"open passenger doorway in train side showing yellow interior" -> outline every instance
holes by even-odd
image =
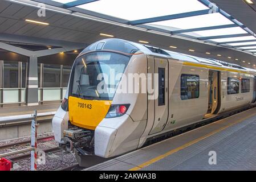
[[[218,112],[219,103],[219,72],[209,71],[209,98],[208,98],[208,113],[215,114]]]

